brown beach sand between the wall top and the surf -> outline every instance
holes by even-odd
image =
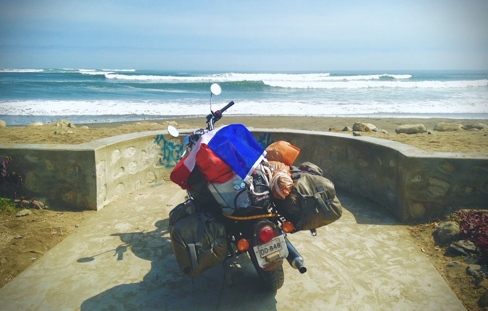
[[[7,126],[0,127],[1,143],[29,143],[29,144],[81,144],[101,138],[121,135],[126,133],[162,130],[166,129],[168,121],[178,123],[178,128],[203,128],[205,118],[181,118],[152,120],[142,122],[115,122],[115,123],[95,123],[77,124],[77,128],[72,129],[72,134],[54,134],[60,127],[46,124],[43,126]],[[488,130],[480,131],[455,131],[438,132],[433,131],[439,122],[456,123],[467,125],[471,123],[488,124],[488,120],[473,119],[418,119],[418,118],[339,118],[339,117],[313,117],[313,116],[224,116],[218,123],[234,124],[240,123],[253,128],[283,128],[283,129],[302,129],[313,131],[341,132],[352,135],[352,132],[343,132],[345,126],[352,128],[355,122],[372,123],[378,128],[385,129],[388,134],[363,132],[367,136],[381,139],[398,141],[404,144],[418,147],[426,151],[441,152],[468,152],[468,153],[487,153],[488,152]],[[396,134],[395,129],[404,124],[425,125],[431,133],[423,134]],[[87,125],[89,128],[81,128]],[[335,128],[335,129],[333,129]]]

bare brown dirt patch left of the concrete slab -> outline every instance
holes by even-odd
[[[83,222],[95,213],[92,210],[30,211],[31,215],[23,217],[15,217],[15,213],[0,214],[0,288],[67,236],[82,230]]]

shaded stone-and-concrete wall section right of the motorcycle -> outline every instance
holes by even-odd
[[[435,217],[446,208],[488,204],[488,153],[426,152],[393,141],[330,132],[252,132],[261,146],[285,140],[301,148],[296,166],[305,161],[317,164],[337,189],[378,202],[402,221]]]

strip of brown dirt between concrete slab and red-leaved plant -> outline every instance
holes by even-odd
[[[485,308],[478,306],[478,300],[488,290],[488,280],[482,276],[473,277],[466,273],[470,258],[456,257],[449,253],[447,251],[448,245],[439,246],[436,232],[437,224],[438,222],[431,222],[411,226],[408,229],[425,256],[436,267],[466,309],[485,310]],[[456,261],[457,264],[451,264],[453,265],[451,267],[447,266],[453,261]]]

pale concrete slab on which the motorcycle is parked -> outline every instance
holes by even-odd
[[[404,225],[347,193],[339,221],[291,235],[308,271],[285,263],[278,291],[247,256],[232,286],[221,266],[187,278],[167,232],[184,195],[165,183],[110,203],[0,289],[0,310],[465,310]]]

